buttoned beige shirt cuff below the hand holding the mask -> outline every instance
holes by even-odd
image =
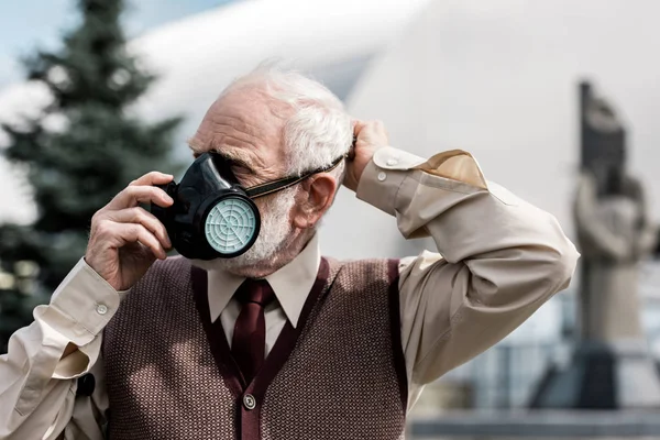
[[[55,290],[51,305],[36,310],[35,319],[45,322],[72,343],[90,343],[119,308],[121,296],[84,258]]]

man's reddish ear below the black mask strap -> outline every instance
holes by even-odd
[[[337,179],[328,173],[302,180],[292,211],[294,226],[299,229],[314,228],[332,205],[337,185]]]

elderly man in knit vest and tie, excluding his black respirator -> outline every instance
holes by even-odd
[[[383,124],[352,121],[296,73],[237,80],[189,144],[248,191],[272,189],[254,199],[256,241],[235,257],[167,258],[167,229],[139,204],[170,207],[156,185],[173,177],[131,183],[0,359],[1,439],[399,439],[426,384],[575,267],[556,219],[486,182],[469,153],[395,150]],[[317,228],[342,183],[439,253],[322,257]]]

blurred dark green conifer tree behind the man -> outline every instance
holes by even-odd
[[[170,160],[178,118],[141,121],[130,110],[154,77],[125,50],[123,0],[78,0],[81,21],[58,52],[24,64],[52,103],[34,119],[2,124],[4,156],[26,173],[37,208],[32,224],[0,227],[0,352],[32,320],[84,254],[91,216],[130,180],[176,172]]]

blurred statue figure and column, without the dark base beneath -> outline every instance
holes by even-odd
[[[613,342],[644,339],[639,262],[656,246],[640,182],[626,174],[625,132],[603,99],[585,97],[585,151],[574,213],[582,252],[581,336]],[[590,99],[591,98],[591,99]],[[598,141],[608,142],[598,142]]]

